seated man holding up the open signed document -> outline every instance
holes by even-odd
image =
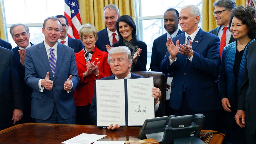
[[[102,79],[129,79],[129,78],[140,78],[142,76],[133,74],[131,72],[132,57],[131,51],[126,46],[114,47],[108,51],[108,64],[110,65],[111,71],[114,75],[105,77]],[[159,88],[152,88],[152,96],[155,99],[155,111],[156,113],[162,113],[163,109],[160,106],[159,97],[161,96],[161,91]],[[97,106],[96,106],[96,83],[94,88],[94,95],[92,98],[92,105],[89,111],[92,122],[96,124],[97,122]],[[110,124],[108,129],[116,129],[120,126],[118,124]]]

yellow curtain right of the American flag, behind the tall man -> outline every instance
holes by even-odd
[[[136,21],[135,0],[78,0],[78,2],[82,24],[90,23],[97,31],[105,28],[103,8],[108,4],[116,5],[120,16],[130,15]]]

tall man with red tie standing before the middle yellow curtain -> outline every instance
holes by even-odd
[[[116,29],[116,21],[119,18],[119,9],[114,4],[106,5],[103,9],[103,16],[106,28],[97,32],[98,40],[95,45],[101,51],[106,51],[106,45],[112,46],[119,40]]]

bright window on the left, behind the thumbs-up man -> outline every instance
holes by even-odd
[[[49,16],[64,15],[64,0],[4,0],[4,8],[7,36],[14,48],[17,44],[9,32],[13,24],[26,24],[29,27],[30,42],[41,43],[44,40],[41,31],[43,21]]]

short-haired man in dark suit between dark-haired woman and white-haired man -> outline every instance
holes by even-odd
[[[162,62],[166,53],[166,40],[171,37],[175,37],[183,33],[179,28],[179,12],[174,8],[169,8],[164,12],[164,28],[167,31],[165,34],[161,35],[154,40],[152,46],[151,71],[161,71],[160,63]]]

